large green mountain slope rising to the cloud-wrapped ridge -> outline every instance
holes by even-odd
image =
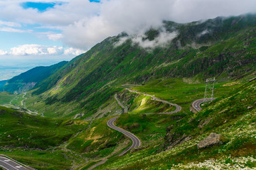
[[[208,77],[220,81],[252,77],[255,18],[247,15],[187,24],[165,21],[166,31],[178,34],[166,45],[151,50],[132,42],[124,33],[107,38],[38,84],[28,106],[41,112],[48,108],[50,117],[76,113],[89,117],[126,83],[145,84],[170,77],[193,77],[199,82]],[[151,29],[144,40],[154,40],[160,32],[160,28]],[[127,40],[117,46],[120,38]]]

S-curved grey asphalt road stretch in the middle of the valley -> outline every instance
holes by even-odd
[[[118,117],[119,117],[119,116],[114,117],[114,118],[108,120],[108,121],[107,121],[107,125],[108,125],[110,128],[114,129],[114,130],[117,130],[117,131],[119,131],[119,132],[122,132],[122,134],[126,135],[127,137],[129,137],[129,138],[132,140],[132,146],[129,147],[129,148],[127,148],[126,150],[124,150],[124,152],[122,152],[121,154],[119,154],[119,156],[122,156],[122,155],[126,154],[130,149],[133,149],[133,148],[135,148],[135,147],[139,147],[139,146],[141,145],[141,142],[140,142],[139,138],[136,137],[135,135],[133,135],[132,133],[127,132],[126,130],[123,130],[123,129],[121,129],[121,128],[118,128],[117,126],[114,125],[114,121],[117,120]]]

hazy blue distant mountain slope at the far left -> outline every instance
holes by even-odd
[[[44,79],[50,77],[58,69],[63,67],[67,62],[59,62],[48,67],[35,67],[28,70],[12,79],[9,79],[4,86],[1,86],[1,91],[9,91],[11,93],[21,94],[25,91],[33,89],[33,87],[43,81]]]

